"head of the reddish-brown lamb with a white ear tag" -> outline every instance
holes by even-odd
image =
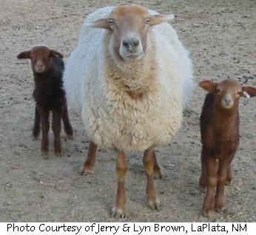
[[[202,81],[199,86],[207,92],[215,93],[215,101],[220,109],[234,109],[238,106],[241,97],[256,96],[256,88],[241,86],[237,81],[227,79],[220,83]]]

